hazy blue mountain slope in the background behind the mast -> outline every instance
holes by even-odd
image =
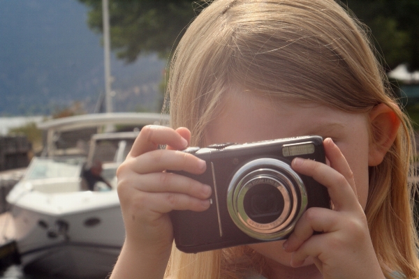
[[[0,116],[51,114],[82,101],[93,112],[105,91],[101,36],[77,0],[1,0]],[[114,110],[159,112],[166,61],[125,65],[112,54]]]

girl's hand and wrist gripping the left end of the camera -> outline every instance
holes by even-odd
[[[126,241],[114,273],[121,271],[122,266],[130,269],[124,272],[128,277],[120,278],[138,274],[142,278],[163,278],[173,241],[168,212],[204,211],[210,206],[210,186],[165,172],[166,169],[192,174],[205,172],[205,161],[178,151],[189,146],[190,137],[186,128],[145,126],[117,169]],[[167,144],[168,148],[157,149],[159,144]]]

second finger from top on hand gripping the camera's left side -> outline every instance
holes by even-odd
[[[127,164],[130,164],[130,168],[138,174],[163,172],[166,169],[202,174],[207,169],[205,160],[182,151],[164,149],[144,153],[142,156],[132,158]]]

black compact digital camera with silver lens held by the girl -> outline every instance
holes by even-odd
[[[205,160],[207,170],[174,173],[211,186],[212,204],[203,212],[170,213],[183,252],[286,239],[305,210],[330,208],[325,186],[291,168],[295,157],[325,163],[322,137],[212,144],[184,152]]]

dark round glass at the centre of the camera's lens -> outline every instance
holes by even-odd
[[[244,211],[256,223],[272,223],[284,211],[284,197],[267,183],[253,186],[244,196]]]

